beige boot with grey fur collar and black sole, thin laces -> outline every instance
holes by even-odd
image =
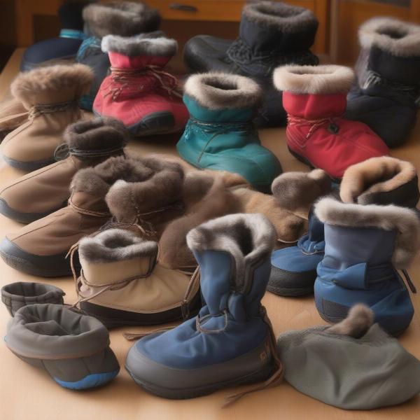
[[[200,276],[160,265],[158,243],[139,231],[102,230],[78,243],[78,304],[107,328],[152,325],[197,313]]]

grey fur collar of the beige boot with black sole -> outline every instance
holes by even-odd
[[[108,229],[80,239],[78,253],[86,262],[115,262],[156,255],[158,244],[130,230]]]

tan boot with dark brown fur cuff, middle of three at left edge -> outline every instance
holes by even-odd
[[[129,135],[114,118],[94,118],[69,125],[57,148],[59,161],[15,179],[0,191],[0,213],[31,223],[66,206],[70,183],[79,169],[122,155]]]

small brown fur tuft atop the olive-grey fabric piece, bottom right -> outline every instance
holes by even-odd
[[[374,314],[372,309],[365,304],[358,303],[350,308],[349,313],[343,321],[327,328],[325,332],[360,338],[363,337],[367,330],[372,326],[373,320]]]

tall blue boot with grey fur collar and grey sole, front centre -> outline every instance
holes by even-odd
[[[174,399],[272,374],[259,388],[276,384],[281,363],[260,303],[275,241],[271,223],[258,214],[224,216],[192,230],[187,241],[200,265],[206,304],[176,328],[141,338],[127,355],[127,371],[146,391]]]

